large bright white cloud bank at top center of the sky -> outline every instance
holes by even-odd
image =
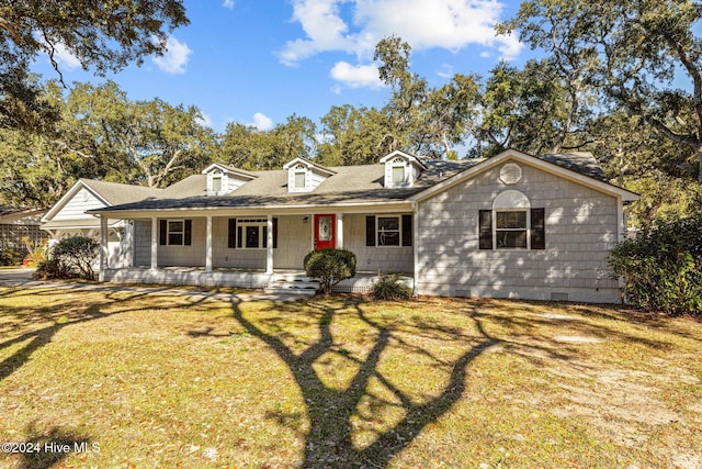
[[[342,4],[351,11],[349,20],[342,18]],[[506,59],[523,47],[513,36],[495,34],[503,9],[498,0],[293,0],[293,7],[292,20],[305,37],[285,44],[280,52],[285,65],[329,51],[367,58],[380,40],[393,34],[415,49],[477,44],[497,48]]]

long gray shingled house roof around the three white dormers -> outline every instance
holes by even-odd
[[[233,192],[212,197],[206,194],[206,175],[195,175],[167,189],[152,192],[148,198],[91,210],[89,213],[408,203],[429,198],[509,159],[520,160],[601,192],[621,197],[624,201],[638,199],[635,193],[607,182],[591,154],[573,153],[535,157],[509,149],[487,159],[422,161],[426,169],[412,187],[406,188],[384,187],[385,166],[382,164],[325,168],[331,172],[331,176],[312,192],[288,192],[287,170],[276,169],[251,171],[251,175],[256,176],[254,179]]]

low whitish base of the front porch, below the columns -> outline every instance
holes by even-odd
[[[204,267],[161,267],[157,269],[129,267],[105,269],[101,272],[103,281],[113,283],[157,283],[157,284],[188,284],[197,287],[231,287],[246,289],[288,289],[296,292],[317,291],[318,283],[309,279],[302,270],[281,269],[273,272],[264,270],[239,270]],[[359,272],[355,277],[343,280],[335,286],[339,293],[367,293],[373,283],[378,281],[376,273]],[[404,275],[400,281],[414,289],[411,276]]]

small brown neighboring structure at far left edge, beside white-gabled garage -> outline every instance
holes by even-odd
[[[0,206],[0,250],[16,249],[27,254],[29,241],[32,246],[48,239],[48,233],[39,228],[46,210]]]

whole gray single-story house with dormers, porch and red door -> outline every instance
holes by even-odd
[[[104,281],[267,287],[291,280],[309,250],[344,247],[361,273],[348,290],[401,272],[416,294],[596,302],[620,301],[607,256],[638,199],[590,154],[516,150],[461,161],[394,152],[330,168],[295,158],[265,171],[213,164],[166,189],[104,185],[80,181],[45,222],[65,232],[92,216]],[[102,206],[88,206],[91,194]]]

